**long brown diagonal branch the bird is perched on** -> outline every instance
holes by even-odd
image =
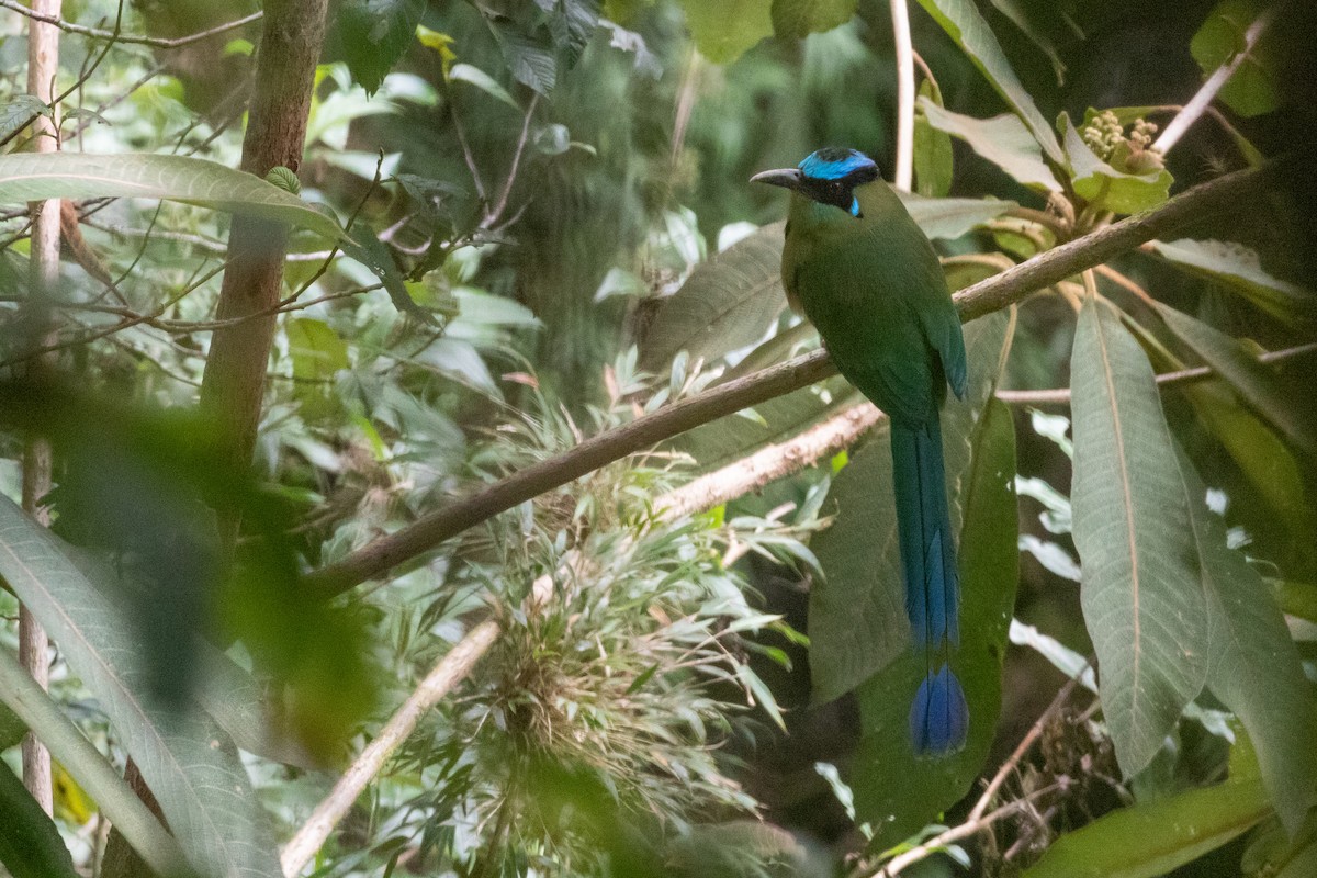
[[[1201,221],[1205,216],[1238,209],[1241,204],[1256,200],[1268,187],[1288,179],[1297,170],[1297,159],[1289,157],[1195,186],[1155,211],[1098,229],[963,290],[956,295],[960,317],[965,321],[981,317],[1146,241]],[[309,573],[304,582],[327,598],[341,594],[367,579],[387,574],[394,566],[429,552],[466,528],[606,463],[724,415],[805,387],[835,371],[827,353],[819,350],[719,384],[626,426],[594,436],[569,452],[514,473],[470,498],[424,515],[402,530],[362,546],[342,561]]]

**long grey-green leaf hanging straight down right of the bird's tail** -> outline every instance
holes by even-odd
[[[1071,361],[1075,546],[1102,712],[1126,777],[1206,681],[1208,624],[1188,498],[1152,366],[1087,299]]]

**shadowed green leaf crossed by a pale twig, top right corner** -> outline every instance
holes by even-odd
[[[1205,75],[1229,65],[1245,50],[1245,32],[1258,18],[1263,4],[1256,0],[1222,0],[1189,41],[1189,54]],[[1272,22],[1271,28],[1276,28]],[[1217,99],[1241,116],[1260,116],[1280,107],[1275,84],[1275,65],[1268,51],[1267,34],[1259,37],[1249,57],[1217,92]]]

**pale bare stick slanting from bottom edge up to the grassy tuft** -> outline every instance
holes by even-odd
[[[453,646],[437,665],[425,675],[420,686],[416,687],[403,706],[398,708],[385,727],[379,729],[366,749],[361,752],[353,763],[333,785],[329,795],[316,806],[298,833],[283,849],[279,864],[283,874],[292,878],[302,871],[303,866],[311,862],[316,852],[338,825],[338,821],[352,808],[361,791],[374,779],[385,766],[385,761],[396,750],[403,741],[416,729],[421,717],[444,698],[449,690],[465,678],[475,662],[494,645],[498,638],[499,627],[495,621],[482,621],[469,631],[461,642]]]

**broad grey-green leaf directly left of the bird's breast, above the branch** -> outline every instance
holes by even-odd
[[[666,371],[680,350],[711,363],[763,338],[786,305],[782,229],[766,225],[699,265],[645,333],[641,369]]]

